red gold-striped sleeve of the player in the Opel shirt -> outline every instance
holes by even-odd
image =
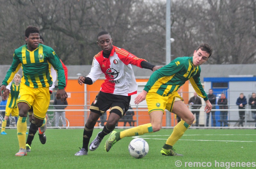
[[[119,59],[122,60],[122,62],[124,62],[125,65],[132,64],[142,68],[140,62],[147,61],[145,59],[138,58],[134,54],[127,52],[126,50],[121,48],[116,47],[115,52],[118,55]]]

